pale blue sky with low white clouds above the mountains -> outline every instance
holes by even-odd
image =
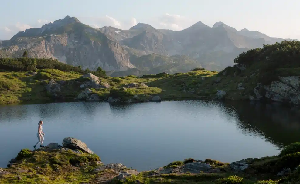
[[[141,22],[182,30],[198,21],[208,26],[222,21],[237,30],[247,28],[271,37],[300,40],[298,0],[10,0],[0,4],[1,40],[66,15],[94,28],[129,29]]]

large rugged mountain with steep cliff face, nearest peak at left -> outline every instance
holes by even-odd
[[[27,50],[29,57],[51,57],[91,70],[101,67],[124,71],[134,67],[128,52],[118,42],[69,16],[39,29],[19,32],[2,47],[15,57]]]

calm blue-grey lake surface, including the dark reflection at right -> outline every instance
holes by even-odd
[[[22,148],[33,149],[39,120],[44,145],[75,137],[105,164],[141,171],[190,157],[233,162],[278,154],[300,140],[299,112],[276,103],[203,100],[0,106],[0,167]]]

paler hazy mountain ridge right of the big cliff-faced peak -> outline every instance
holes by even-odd
[[[243,51],[262,47],[264,44],[281,42],[258,31],[237,31],[223,22],[212,27],[199,21],[181,31],[155,29],[151,25],[138,23],[129,30],[114,27],[99,28],[101,32],[118,41],[128,51],[130,58],[145,54],[165,56],[187,55],[210,70],[222,70],[233,65],[233,60]]]

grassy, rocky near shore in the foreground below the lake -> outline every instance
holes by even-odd
[[[279,155],[238,161],[241,165],[190,158],[139,173],[122,164],[104,165],[97,155],[79,150],[22,149],[8,168],[0,168],[0,184],[296,184],[300,182],[299,151],[300,142],[297,142],[286,146]]]

